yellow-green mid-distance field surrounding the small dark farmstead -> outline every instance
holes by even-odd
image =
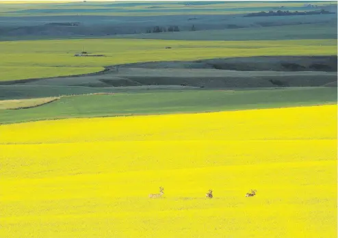
[[[172,49],[164,49],[168,46]],[[82,47],[106,57],[73,57]],[[255,55],[335,55],[337,40],[31,40],[0,42],[0,52],[0,81],[3,81],[95,72],[102,66],[133,62]]]

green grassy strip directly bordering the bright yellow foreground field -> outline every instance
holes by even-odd
[[[31,109],[0,110],[1,123],[54,118],[166,114],[335,103],[337,88],[198,90],[64,97]]]

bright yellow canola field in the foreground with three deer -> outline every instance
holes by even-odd
[[[337,105],[2,125],[0,237],[336,237],[336,159]]]

